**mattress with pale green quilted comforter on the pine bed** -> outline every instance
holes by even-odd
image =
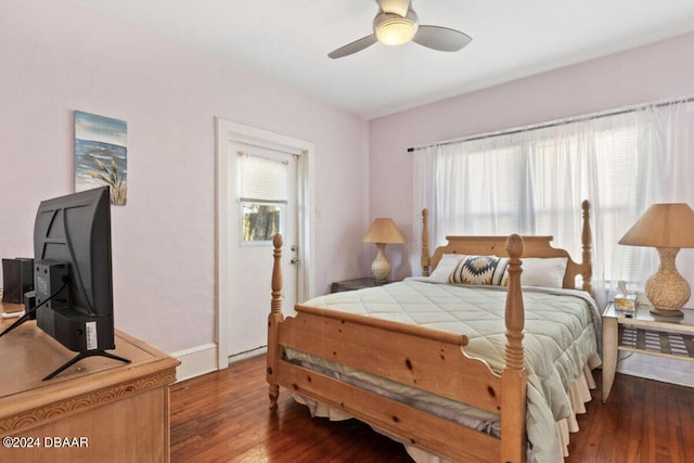
[[[556,423],[573,417],[567,391],[599,351],[600,313],[583,292],[524,287],[526,428],[538,462],[562,454]],[[504,364],[506,291],[502,286],[452,285],[407,279],[373,288],[335,293],[303,304],[426,326],[468,337],[466,355],[484,359],[497,373]],[[324,359],[286,349],[287,359],[330,371],[347,382],[394,395],[433,413],[496,434],[498,416],[449,399],[395,384]],[[473,420],[472,422],[470,420]]]

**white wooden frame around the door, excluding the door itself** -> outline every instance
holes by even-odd
[[[215,323],[216,323],[216,344],[217,344],[217,369],[222,370],[229,366],[229,346],[230,333],[229,326],[229,300],[230,295],[228,286],[221,284],[229,278],[229,269],[232,262],[229,261],[228,236],[229,215],[229,156],[235,155],[228,150],[229,142],[241,142],[255,144],[272,150],[284,151],[296,154],[298,156],[298,184],[297,184],[297,258],[300,265],[297,269],[297,300],[305,300],[309,295],[313,294],[316,284],[313,272],[313,256],[316,255],[313,240],[314,220],[311,210],[314,204],[314,145],[312,142],[296,139],[271,132],[269,130],[259,129],[257,127],[226,120],[215,117],[216,129],[216,274],[215,274]],[[287,258],[290,253],[285,253],[283,258]],[[268,259],[272,258],[272,254],[268,252]],[[268,287],[268,307],[267,312],[270,313],[270,293]]]

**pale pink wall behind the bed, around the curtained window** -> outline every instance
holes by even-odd
[[[408,147],[692,95],[692,56],[694,34],[374,119],[369,149],[371,216],[393,217],[410,252],[419,255],[420,223],[411,218],[413,155]],[[390,252],[401,254],[399,274],[409,274],[407,249]]]

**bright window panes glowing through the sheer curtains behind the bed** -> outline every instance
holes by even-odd
[[[589,136],[552,127],[531,137],[441,146],[436,200],[445,232],[549,234],[580,258],[582,200],[592,214],[597,207],[605,213],[601,220],[635,220],[635,134],[624,127]],[[605,236],[606,253],[620,231],[612,228]]]

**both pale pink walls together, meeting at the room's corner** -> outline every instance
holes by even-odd
[[[166,351],[213,343],[215,116],[316,144],[323,292],[368,274],[373,249],[359,240],[374,217],[394,217],[417,249],[409,146],[693,94],[693,52],[689,35],[365,123],[73,1],[4,1],[0,256],[31,255],[38,202],[73,191],[73,111],[125,119],[116,324]],[[388,255],[399,276],[410,273],[408,247]]]

